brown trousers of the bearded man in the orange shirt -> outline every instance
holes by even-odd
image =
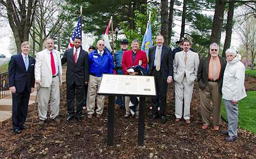
[[[205,124],[210,124],[209,118],[212,114],[213,125],[220,125],[221,121],[221,94],[219,90],[218,82],[208,81],[205,89],[199,88],[200,95],[200,109],[202,115],[202,121]],[[210,106],[210,101],[212,101],[212,107]]]

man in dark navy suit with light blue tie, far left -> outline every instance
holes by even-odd
[[[29,56],[30,44],[21,43],[21,53],[11,57],[8,67],[9,90],[13,94],[13,131],[19,134],[26,128],[30,93],[34,91],[34,64],[35,59]]]

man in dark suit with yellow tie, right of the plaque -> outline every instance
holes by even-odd
[[[164,38],[161,34],[156,37],[157,46],[149,48],[149,72],[150,76],[155,77],[157,96],[151,98],[152,118],[161,116],[162,122],[166,122],[166,93],[167,84],[173,78],[173,55],[171,48],[163,45]]]

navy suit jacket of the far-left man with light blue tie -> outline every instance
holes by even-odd
[[[8,67],[8,83],[9,87],[15,86],[16,92],[22,93],[31,92],[31,87],[34,88],[34,65],[35,59],[29,56],[29,68],[26,71],[23,57],[21,53],[11,57]]]

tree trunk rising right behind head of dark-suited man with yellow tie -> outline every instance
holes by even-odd
[[[161,0],[162,10],[161,10],[161,34],[164,37],[164,43],[167,44],[168,40],[168,0]]]

